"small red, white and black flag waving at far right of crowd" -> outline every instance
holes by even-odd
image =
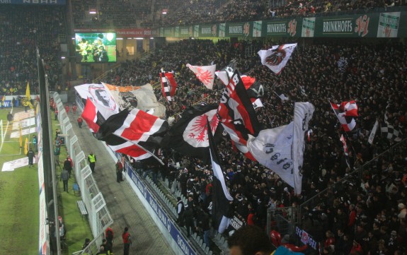
[[[357,117],[357,105],[354,100],[349,102],[342,102],[340,105],[330,102],[333,112],[338,117],[343,131],[349,132],[355,129]]]

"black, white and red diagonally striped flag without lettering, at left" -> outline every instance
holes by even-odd
[[[101,124],[96,138],[105,141],[110,148],[119,153],[142,160],[152,156],[151,154],[154,149],[158,148],[166,131],[168,131],[167,121],[140,109],[132,109],[131,112],[124,109]],[[146,150],[139,148],[134,143]]]

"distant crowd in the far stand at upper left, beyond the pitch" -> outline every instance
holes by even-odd
[[[51,88],[59,85],[61,64],[59,34],[65,34],[60,8],[47,6],[2,6],[0,9],[1,95],[25,95],[27,83],[38,93],[36,47],[45,61]]]

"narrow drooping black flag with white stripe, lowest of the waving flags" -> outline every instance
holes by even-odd
[[[207,120],[207,129],[211,129],[210,120]],[[212,182],[212,217],[214,226],[217,227],[219,233],[223,233],[229,225],[230,219],[227,218],[227,211],[229,210],[229,201],[233,198],[229,194],[225,182],[226,173],[222,170],[217,152],[217,146],[211,132],[207,134],[210,146],[210,158],[212,161],[212,171],[214,174]]]

